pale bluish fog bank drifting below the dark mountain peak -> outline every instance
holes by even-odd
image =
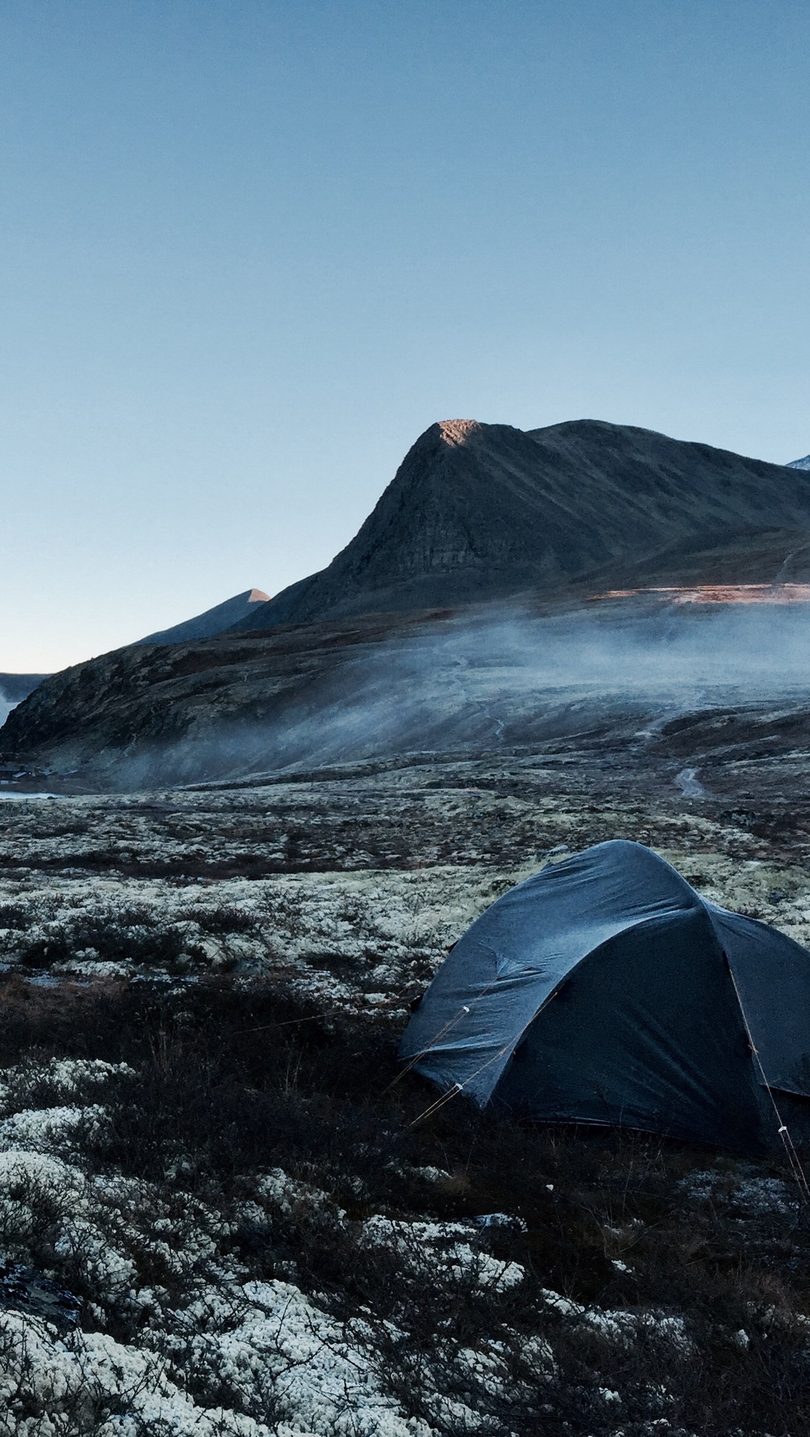
[[[803,696],[810,605],[500,611],[349,654],[267,724],[198,734],[164,763],[182,780],[600,731],[641,736],[682,711]]]

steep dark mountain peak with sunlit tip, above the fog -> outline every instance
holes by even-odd
[[[238,627],[777,573],[810,575],[810,479],[796,468],[596,420],[526,433],[452,420],[416,440],[329,568]]]

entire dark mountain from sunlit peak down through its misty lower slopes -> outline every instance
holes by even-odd
[[[778,578],[773,598],[807,566],[810,473],[592,421],[437,424],[329,569],[269,602],[240,596],[251,614],[228,634],[180,625],[55,675],[9,716],[0,753],[49,785],[56,770],[126,787],[533,744],[587,723],[635,731],[698,693],[725,704],[715,680],[740,685],[734,645],[768,654],[784,635],[721,635],[699,673],[689,652],[661,670],[669,628],[688,650],[691,621],[651,616],[665,595],[616,614],[589,596]],[[628,625],[648,619],[641,662]],[[787,668],[806,671],[803,650]],[[639,674],[659,670],[666,691],[642,693]]]

